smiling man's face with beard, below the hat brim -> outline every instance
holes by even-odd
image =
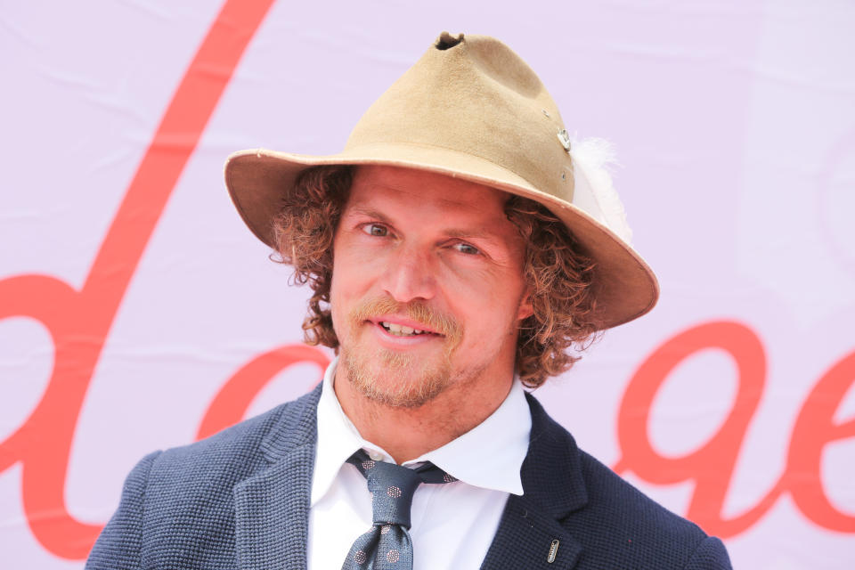
[[[406,168],[357,170],[330,289],[341,364],[357,392],[416,407],[453,385],[509,379],[531,305],[507,197]]]

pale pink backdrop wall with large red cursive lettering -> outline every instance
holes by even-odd
[[[542,402],[734,566],[852,567],[855,4],[270,4],[4,5],[4,567],[82,567],[144,453],[314,385],[305,290],[224,158],[338,151],[443,29],[500,37],[615,142],[662,283]]]

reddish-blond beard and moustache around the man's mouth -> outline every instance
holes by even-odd
[[[442,335],[442,354],[432,359],[402,354],[382,346],[362,346],[365,322],[382,314],[406,314],[409,319]],[[455,372],[452,356],[463,330],[452,315],[423,303],[403,305],[388,297],[367,299],[347,315],[351,342],[341,346],[340,361],[354,389],[369,400],[394,408],[418,408],[476,371]]]

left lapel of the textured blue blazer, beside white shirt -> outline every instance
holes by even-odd
[[[261,444],[266,468],[234,486],[241,570],[305,570],[321,387],[289,404]]]

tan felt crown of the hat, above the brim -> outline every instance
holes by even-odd
[[[572,201],[558,107],[525,61],[493,37],[444,32],[362,115],[345,151],[412,145],[485,159]]]

